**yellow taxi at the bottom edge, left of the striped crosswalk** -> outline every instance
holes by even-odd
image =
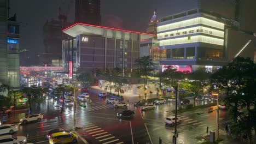
[[[78,136],[74,133],[67,133],[65,131],[54,133],[51,135],[49,139],[50,144],[57,144],[57,143],[77,143]]]

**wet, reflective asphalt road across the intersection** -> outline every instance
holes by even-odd
[[[90,93],[92,105],[84,103],[86,107],[77,105],[75,113],[76,130],[78,143],[87,140],[90,143],[172,143],[174,127],[166,125],[164,120],[168,116],[174,116],[171,110],[174,103],[157,105],[155,110],[141,111],[140,107],[130,104],[128,109],[135,111],[132,118],[119,119],[117,112],[124,109],[115,109],[112,104],[106,104],[105,99],[99,98],[97,94]],[[73,106],[65,106],[65,112],[59,115],[57,101],[47,100],[40,109],[40,112],[47,117],[42,122],[20,125],[19,133],[16,135],[27,136],[28,142],[49,143],[46,134],[54,128],[72,129],[74,124]],[[203,111],[207,109],[203,109]],[[57,116],[57,117],[54,117]],[[53,118],[51,118],[53,117]],[[179,132],[177,143],[199,143],[202,141],[200,135],[206,134],[206,127],[209,130],[216,129],[216,111],[197,115],[196,111],[178,113],[182,123],[177,125]],[[230,121],[225,110],[219,112],[220,129]]]

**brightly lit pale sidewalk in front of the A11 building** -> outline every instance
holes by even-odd
[[[91,88],[90,91],[94,92],[94,93],[99,93],[99,92],[108,92],[108,93],[110,93],[109,89],[107,89],[107,91],[104,91],[104,88],[100,88],[98,86],[92,86],[90,88]],[[112,89],[112,93],[118,94],[117,92],[114,92],[114,89]],[[120,95],[123,96],[124,101],[129,100],[130,103],[136,103],[137,101],[144,99],[144,95],[143,94],[141,94],[141,99],[139,99],[138,94],[131,94],[131,93],[125,92],[125,93],[120,94]],[[156,94],[150,95],[149,92],[148,92],[147,97],[148,97],[148,99],[159,98],[159,96],[157,97]]]

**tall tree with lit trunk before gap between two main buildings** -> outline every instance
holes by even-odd
[[[153,71],[153,60],[151,56],[139,57],[135,61],[135,65],[138,67],[139,75],[144,78],[144,99],[147,100],[147,81],[150,71]]]

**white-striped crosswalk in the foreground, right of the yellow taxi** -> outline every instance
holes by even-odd
[[[98,142],[102,144],[108,143],[115,143],[121,144],[124,143],[123,141],[119,140],[118,137],[113,136],[112,134],[108,133],[104,129],[98,127],[95,124],[88,123],[83,127],[85,133],[88,133],[92,137],[94,137]]]

